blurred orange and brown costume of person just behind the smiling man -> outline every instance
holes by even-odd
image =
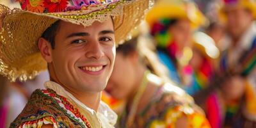
[[[148,74],[148,76],[156,79],[153,74]],[[136,100],[136,96],[133,100]],[[130,114],[124,111],[116,127],[175,127],[177,120],[182,117],[188,119],[187,127],[210,127],[201,112],[193,99],[182,89],[166,83],[163,86],[157,86],[154,97],[140,113],[136,113],[131,124],[129,124]]]

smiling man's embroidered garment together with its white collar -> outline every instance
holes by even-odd
[[[116,114],[104,102],[98,112],[86,107],[63,87],[52,81],[47,90],[36,90],[11,127],[113,127]]]

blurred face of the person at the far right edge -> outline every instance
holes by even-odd
[[[252,12],[239,6],[227,6],[227,29],[233,40],[236,42],[243,35],[244,31],[252,24]]]

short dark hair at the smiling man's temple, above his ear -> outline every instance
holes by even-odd
[[[49,28],[47,28],[41,36],[42,38],[44,38],[45,40],[51,43],[52,49],[54,49],[54,46],[55,46],[55,36],[59,26],[60,26],[60,20],[57,20]]]

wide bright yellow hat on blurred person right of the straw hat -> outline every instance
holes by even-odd
[[[149,26],[159,19],[188,19],[193,28],[205,25],[207,19],[198,10],[195,3],[184,0],[159,0],[148,11],[146,21]]]

